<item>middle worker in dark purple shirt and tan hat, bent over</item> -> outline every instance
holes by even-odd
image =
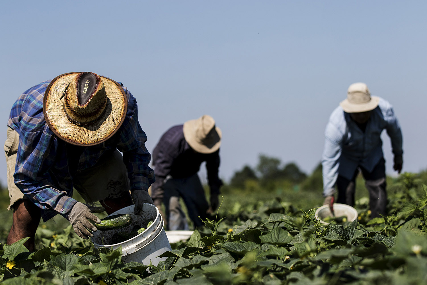
[[[164,202],[168,229],[188,229],[179,197],[184,200],[194,226],[201,226],[199,217],[205,220],[218,206],[222,185],[218,178],[220,144],[221,130],[209,115],[173,126],[160,138],[153,150],[156,182],[152,185],[151,196],[159,209]],[[210,208],[197,175],[202,162],[206,162],[211,190]]]

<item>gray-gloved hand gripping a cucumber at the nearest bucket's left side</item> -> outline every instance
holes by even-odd
[[[73,225],[74,232],[76,232],[80,238],[84,239],[94,236],[89,229],[94,232],[98,230],[88,219],[93,220],[95,223],[101,223],[99,217],[92,214],[88,206],[80,202],[74,204],[67,215],[67,220]]]

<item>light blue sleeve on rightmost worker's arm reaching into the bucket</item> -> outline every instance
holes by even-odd
[[[329,122],[325,129],[325,148],[322,155],[323,195],[335,193],[335,182],[338,177],[339,157],[342,152],[342,133]]]

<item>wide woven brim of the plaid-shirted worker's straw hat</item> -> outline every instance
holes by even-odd
[[[107,106],[103,115],[89,126],[77,126],[68,120],[64,111],[64,90],[80,72],[64,73],[47,86],[43,98],[43,113],[49,128],[67,143],[79,146],[100,144],[111,138],[126,117],[127,98],[120,84],[99,76],[105,86]]]

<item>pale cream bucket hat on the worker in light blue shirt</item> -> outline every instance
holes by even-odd
[[[347,99],[339,105],[347,113],[361,113],[375,109],[380,101],[379,97],[371,96],[365,83],[357,82],[348,87]]]

